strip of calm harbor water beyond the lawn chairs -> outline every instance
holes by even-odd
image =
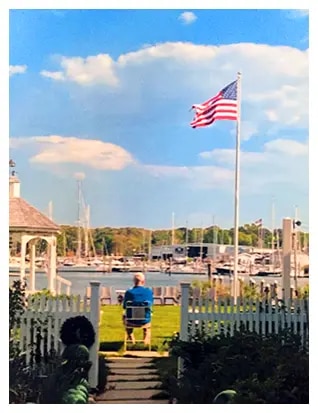
[[[72,282],[71,293],[80,294],[84,296],[86,287],[89,286],[90,281],[100,281],[101,286],[112,287],[113,298],[116,298],[116,290],[127,290],[133,286],[133,273],[85,273],[85,272],[59,272],[59,275],[66,280]],[[162,272],[150,272],[145,273],[146,275],[146,286],[147,287],[164,287],[164,286],[179,286],[182,281],[192,282],[194,280],[206,281],[207,275],[195,275],[195,274],[166,274]],[[249,276],[245,276],[246,282],[249,280]],[[278,285],[281,286],[282,277],[253,277],[257,284],[261,280],[265,280],[266,284],[271,284],[277,281]],[[10,281],[13,277],[10,277]],[[223,277],[224,283],[229,283],[229,277]],[[298,286],[302,287],[309,283],[308,278],[299,278],[297,280]],[[294,285],[294,280],[291,279],[291,285]],[[36,290],[42,290],[47,288],[47,276],[45,274],[36,274],[35,277],[35,288]],[[62,292],[65,292],[65,287],[62,286]]]

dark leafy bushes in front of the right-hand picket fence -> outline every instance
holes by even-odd
[[[181,377],[168,389],[178,403],[212,403],[226,389],[237,393],[235,403],[308,403],[308,351],[289,330],[262,336],[242,329],[232,337],[197,332],[170,346],[183,360]]]

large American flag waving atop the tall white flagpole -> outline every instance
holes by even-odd
[[[200,105],[193,105],[195,116],[190,126],[200,128],[215,120],[237,120],[237,80],[227,85],[216,96]]]

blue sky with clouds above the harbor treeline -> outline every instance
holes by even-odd
[[[189,108],[242,71],[240,223],[308,222],[308,16],[282,10],[10,12],[10,156],[74,224],[233,226],[235,122]]]

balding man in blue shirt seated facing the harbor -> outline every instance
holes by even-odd
[[[142,327],[144,331],[144,344],[148,345],[150,341],[150,327],[151,327],[151,306],[153,304],[153,293],[150,288],[145,287],[145,275],[138,272],[134,275],[134,286],[125,292],[123,307],[126,309],[127,303],[132,306],[147,305],[145,310],[144,320],[126,321],[124,315],[124,324],[128,334],[128,340],[135,342],[133,335],[134,327]],[[127,310],[129,311],[129,309]],[[131,317],[127,314],[128,318]]]

